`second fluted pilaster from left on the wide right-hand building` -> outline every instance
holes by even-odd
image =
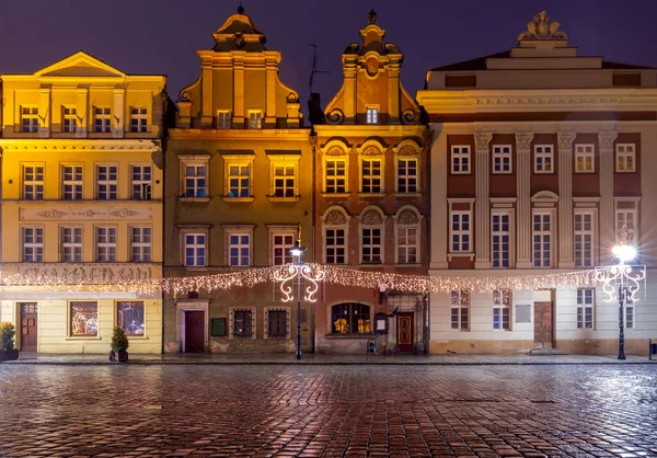
[[[518,259],[516,268],[531,268],[531,141],[533,133],[516,133],[516,187],[518,193],[516,247]]]

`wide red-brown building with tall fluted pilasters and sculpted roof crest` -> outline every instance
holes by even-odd
[[[518,46],[428,72],[417,100],[431,148],[431,275],[519,276],[611,265],[629,227],[645,296],[630,353],[657,329],[657,70],[581,57],[539,13]],[[600,288],[431,295],[430,352],[614,353],[618,304]]]

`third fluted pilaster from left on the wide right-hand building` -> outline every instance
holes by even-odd
[[[574,131],[557,131],[558,138],[558,267],[573,268],[573,140]]]

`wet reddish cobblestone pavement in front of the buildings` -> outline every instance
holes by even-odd
[[[657,456],[657,366],[0,365],[0,456]]]

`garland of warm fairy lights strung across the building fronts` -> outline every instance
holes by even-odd
[[[532,274],[514,274],[500,272],[495,275],[407,275],[387,272],[361,271],[326,264],[306,264],[310,274],[321,274],[322,282],[333,285],[372,288],[377,290],[395,290],[397,293],[427,294],[447,293],[457,289],[470,289],[473,293],[491,293],[494,290],[533,290],[560,287],[590,287],[597,283],[599,268],[544,272]],[[237,287],[253,287],[267,282],[277,282],[276,274],[286,266],[251,267],[234,272],[207,275],[189,275],[170,278],[151,279],[115,279],[94,283],[89,279],[71,282],[51,275],[28,275],[22,273],[1,272],[0,285],[38,287],[39,289],[59,291],[130,291],[136,294],[153,294],[165,291],[178,296],[188,291],[218,291]]]

